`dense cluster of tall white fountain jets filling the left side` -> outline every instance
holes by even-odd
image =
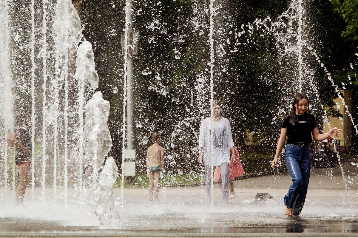
[[[28,27],[31,30],[28,55],[26,51],[19,53],[24,54],[25,57],[21,58],[24,58],[24,62],[28,57],[26,63],[29,67],[21,72],[20,75],[25,76],[20,77],[22,81],[18,82],[10,73],[10,55],[17,56],[18,52],[13,48],[13,52],[9,50],[11,30],[14,30],[10,23],[14,23],[16,16],[8,16],[10,9],[16,6],[8,6],[7,3],[0,3],[0,44],[3,46],[0,51],[0,90],[4,91],[0,98],[3,105],[1,114],[4,114],[0,122],[1,137],[7,136],[9,130],[14,131],[11,123],[14,121],[12,108],[15,103],[11,88],[27,93],[16,95],[18,101],[28,103],[30,107],[27,110],[31,111],[29,118],[18,117],[16,121],[19,126],[29,130],[32,141],[32,192],[26,193],[24,202],[32,207],[41,200],[43,207],[47,207],[47,203],[52,201],[51,209],[63,207],[68,215],[68,208],[77,204],[78,207],[85,207],[85,210],[90,209],[94,215],[100,190],[97,183],[98,170],[111,146],[111,137],[107,126],[109,102],[103,100],[101,93],[97,92],[87,103],[98,87],[92,45],[82,39],[81,21],[71,1],[59,0],[54,4],[45,0],[41,7],[31,1],[28,8]],[[41,18],[38,17],[40,15]],[[40,29],[39,33],[37,28]],[[14,58],[13,62],[16,62]],[[107,136],[106,139],[104,136]],[[88,148],[87,143],[91,148]],[[4,143],[2,152],[5,154],[2,156],[5,157],[5,193],[1,193],[1,196],[7,194],[11,169],[13,191],[16,178],[14,158],[11,159],[13,165],[8,166],[12,150],[8,150]],[[85,165],[93,168],[89,172],[91,178],[83,175]],[[113,163],[110,165],[113,166]],[[105,173],[117,175],[116,171]],[[3,180],[3,175],[1,177]],[[41,196],[38,196],[38,186],[41,187]],[[93,196],[86,196],[88,194]]]

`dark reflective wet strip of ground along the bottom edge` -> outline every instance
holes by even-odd
[[[127,218],[127,217],[126,217]],[[224,218],[224,219],[222,219]],[[243,220],[251,220],[245,222]],[[135,220],[140,220],[135,222]],[[0,237],[17,236],[162,236],[162,237],[352,237],[358,235],[358,222],[355,217],[271,217],[257,220],[238,214],[207,215],[204,223],[195,222],[184,216],[165,215],[138,216],[121,222],[122,228],[104,229],[98,226],[64,225],[62,221],[43,221],[26,218],[1,218]],[[155,225],[156,224],[156,225]],[[158,225],[160,224],[160,225]],[[153,227],[152,227],[153,225]]]

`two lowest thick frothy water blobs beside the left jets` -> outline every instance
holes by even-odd
[[[108,211],[111,211],[113,206],[110,190],[117,178],[117,169],[116,166],[113,166],[113,158],[110,157],[107,161],[108,164],[106,162],[105,168],[100,174],[99,184],[97,185],[98,171],[100,171],[103,159],[112,146],[111,135],[107,126],[109,111],[110,103],[103,100],[101,92],[96,92],[86,105],[86,124],[84,126],[87,139],[86,152],[92,157],[93,171],[92,184],[90,184],[92,196],[89,199],[92,200],[92,204],[97,203],[96,214],[100,218],[101,225],[108,225],[110,222],[108,216],[114,216],[114,214],[108,214]],[[103,198],[103,194],[105,194],[105,198]],[[108,199],[112,199],[112,202],[108,202]],[[116,216],[113,218],[116,218]]]

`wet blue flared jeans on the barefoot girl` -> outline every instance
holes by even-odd
[[[292,214],[301,213],[306,200],[308,183],[310,181],[311,156],[308,145],[286,145],[286,165],[292,178],[289,192],[285,195],[284,203],[292,208]]]

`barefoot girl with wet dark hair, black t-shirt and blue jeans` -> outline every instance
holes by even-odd
[[[342,134],[342,130],[337,128],[320,134],[315,117],[306,112],[308,102],[308,97],[305,94],[296,94],[292,112],[285,117],[282,123],[275,158],[271,162],[272,167],[276,168],[287,135],[285,160],[292,178],[292,184],[285,195],[284,203],[286,205],[285,214],[290,217],[296,217],[301,213],[306,199],[311,170],[311,157],[309,154],[309,144],[312,143],[311,133],[316,141],[323,141],[330,136],[339,137]]]

